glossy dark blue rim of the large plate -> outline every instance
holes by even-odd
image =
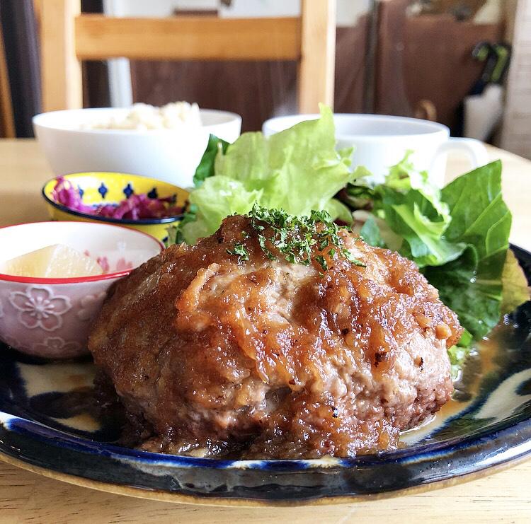
[[[531,253],[511,247],[531,280]],[[526,351],[530,359],[527,354],[525,359],[529,364],[525,369],[529,369],[531,302],[512,315],[515,322],[527,322],[522,343],[529,346]],[[516,374],[504,375],[503,380]],[[531,392],[531,379],[525,387],[526,393]],[[437,431],[477,412],[491,394],[479,394]],[[133,494],[147,498],[164,492],[176,501],[229,505],[231,501],[251,505],[344,503],[367,496],[390,496],[397,491],[464,480],[467,475],[531,455],[531,400],[525,409],[469,434],[375,455],[319,460],[243,461],[162,455],[90,441],[3,412],[0,423],[0,458],[4,454],[6,460],[47,470],[51,476],[57,472],[59,477],[62,474],[103,483],[109,491],[132,488]],[[168,496],[166,500],[171,499]]]

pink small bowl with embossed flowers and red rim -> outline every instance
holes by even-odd
[[[164,246],[151,235],[109,224],[38,222],[0,228],[0,262],[64,244],[98,260],[105,273],[69,279],[0,274],[0,339],[23,353],[67,359],[86,339],[111,284]]]

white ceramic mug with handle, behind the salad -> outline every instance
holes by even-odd
[[[290,115],[266,120],[265,136],[278,133],[303,120],[319,115]],[[399,163],[411,149],[411,161],[418,170],[427,170],[430,180],[442,187],[445,180],[448,151],[467,153],[471,169],[489,162],[486,147],[479,140],[450,137],[450,129],[437,122],[418,118],[387,115],[333,115],[338,149],[354,147],[353,167],[363,165],[373,174],[375,182],[383,182],[389,167]]]

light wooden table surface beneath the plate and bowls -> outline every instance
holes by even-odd
[[[531,250],[531,161],[503,161],[513,211],[511,241]],[[467,170],[450,158],[448,180]],[[0,140],[0,226],[46,220],[40,187],[52,176],[35,141]],[[0,370],[1,373],[1,370]],[[0,462],[0,523],[525,523],[531,522],[531,460],[481,479],[394,499],[307,508],[220,508],[163,503],[76,487]]]

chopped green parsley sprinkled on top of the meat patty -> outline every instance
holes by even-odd
[[[251,228],[258,235],[258,244],[269,260],[278,260],[273,249],[278,251],[287,262],[309,266],[312,258],[321,268],[329,269],[329,262],[336,255],[341,256],[357,266],[365,267],[363,262],[353,257],[343,246],[339,230],[347,228],[338,226],[326,211],[312,211],[310,216],[292,216],[279,209],[267,209],[254,204],[247,215],[251,219]],[[269,226],[273,235],[265,235]],[[316,245],[322,255],[312,257],[312,247]],[[229,255],[238,255],[240,260],[249,260],[249,252],[242,243],[235,243]],[[324,256],[326,255],[326,257]]]

